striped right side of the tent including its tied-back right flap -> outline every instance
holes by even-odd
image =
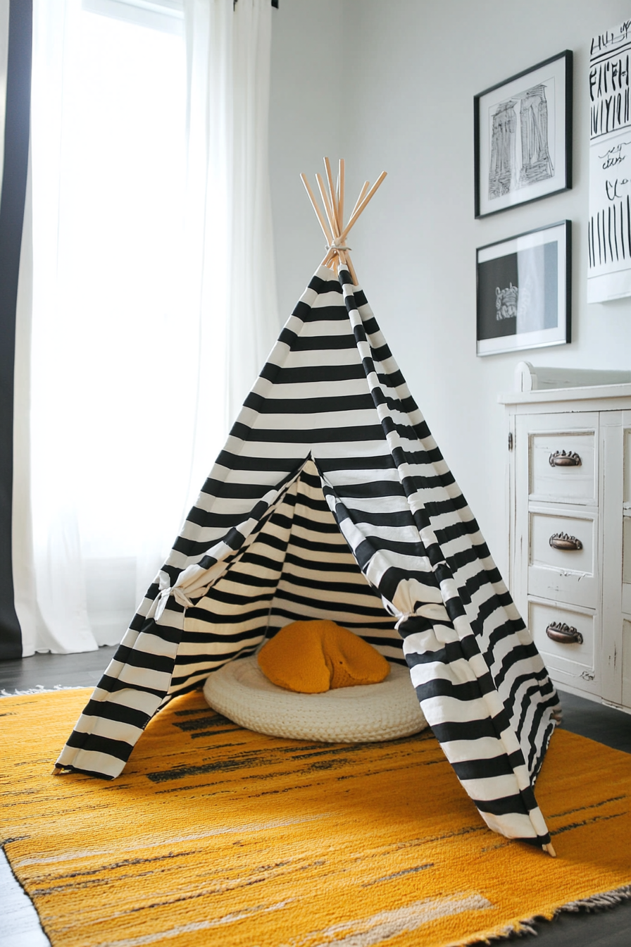
[[[415,629],[419,620],[415,617],[400,626],[402,634],[406,635],[404,650],[411,666],[412,682],[429,724],[435,727],[435,732],[440,732],[447,758],[454,764],[464,788],[478,805],[487,824],[497,828],[500,817],[505,834],[543,844],[548,841],[548,834],[536,807],[532,782],[552,734],[552,710],[558,703],[556,695],[532,639],[488,554],[479,527],[438,454],[405,384],[401,384],[396,376],[392,362],[389,377],[375,364],[375,350],[383,342],[376,333],[369,335],[366,332],[372,313],[367,306],[358,311],[350,287],[346,292],[346,302],[384,435],[389,440],[392,456],[397,461],[400,483],[408,496],[417,527],[417,543],[422,545],[419,550],[418,545],[412,544],[408,555],[411,559],[416,558],[417,562],[419,555],[424,555],[431,563],[431,578],[440,586],[441,599],[446,606],[441,609],[445,624],[436,625],[435,618],[434,621],[425,621],[428,625],[426,634],[410,634],[411,627]],[[394,379],[394,387],[391,379]],[[397,412],[403,401],[410,410],[409,420],[414,423],[424,452],[431,457],[430,465],[423,463],[425,458],[422,456],[414,457],[415,464],[409,463],[407,441],[410,432],[408,426],[401,423]],[[391,552],[393,546],[388,545],[387,538],[385,542],[379,542],[381,536],[377,535],[373,524],[366,527],[362,510],[351,507],[348,502],[340,503],[335,485],[332,484],[328,490],[325,488],[325,492],[349,545],[359,559],[362,545],[370,545],[371,579],[384,598],[393,601],[397,610],[407,612],[409,616],[422,611],[424,603],[437,601],[418,584],[418,574],[414,576],[416,581],[413,584],[410,579],[401,581],[393,595],[389,570],[379,575],[379,569],[376,569],[379,558],[384,564],[392,561],[392,556],[383,555],[383,552]],[[438,541],[437,531],[442,543]],[[387,536],[392,536],[392,533],[392,528],[387,529]],[[397,552],[406,553],[404,544],[405,537],[401,535]],[[408,575],[414,575],[412,570]],[[411,593],[418,599],[412,601]],[[434,627],[440,628],[443,636],[449,632],[453,635],[448,658],[440,647]],[[482,641],[478,641],[474,628]],[[432,652],[439,651],[443,652],[439,661],[428,661]],[[520,687],[524,682],[526,687]],[[475,727],[483,721],[493,724],[493,763],[488,756],[488,745],[486,753],[477,759],[473,743],[469,746],[467,758],[459,759],[459,754],[462,754],[460,724],[467,724],[468,740],[471,741],[471,724]],[[529,721],[529,726],[524,725],[526,721]],[[458,738],[460,746],[453,755],[451,743]]]

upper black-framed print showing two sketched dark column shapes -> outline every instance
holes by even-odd
[[[473,98],[475,214],[571,188],[570,49]]]

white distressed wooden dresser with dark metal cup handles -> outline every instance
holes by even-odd
[[[559,688],[631,711],[631,373],[522,362],[516,383],[511,592]]]

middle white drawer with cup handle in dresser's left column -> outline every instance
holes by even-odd
[[[595,517],[531,509],[529,519],[529,594],[595,608],[598,599]]]

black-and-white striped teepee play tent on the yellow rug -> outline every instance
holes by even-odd
[[[289,621],[331,618],[407,662],[487,825],[552,853],[533,786],[556,693],[351,276],[331,197],[335,266],[281,331],[57,766],[117,777],[174,695]]]

